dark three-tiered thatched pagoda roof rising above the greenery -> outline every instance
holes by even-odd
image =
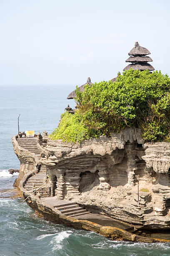
[[[123,70],[129,70],[131,68],[133,69],[139,69],[139,70],[155,70],[152,65],[148,63],[148,61],[153,61],[150,57],[145,56],[150,54],[150,51],[148,49],[140,46],[138,42],[135,43],[135,47],[128,53],[130,56],[126,62],[131,62],[132,64],[129,64],[127,67],[125,67]]]

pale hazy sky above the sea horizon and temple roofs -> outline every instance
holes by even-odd
[[[135,41],[170,75],[170,0],[0,0],[0,84],[110,80]]]

